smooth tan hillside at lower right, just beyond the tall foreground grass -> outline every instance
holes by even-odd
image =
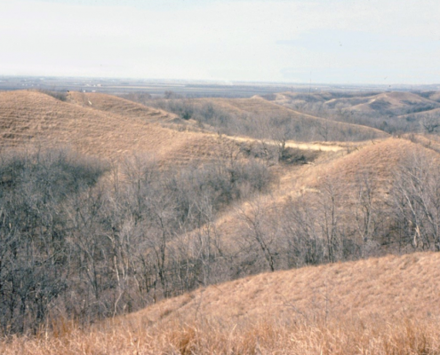
[[[269,317],[299,318],[324,312],[325,298],[333,314],[364,317],[440,317],[440,255],[416,253],[356,262],[262,273],[200,288],[134,313],[145,323],[206,318],[239,322]],[[316,303],[316,304],[314,304]]]

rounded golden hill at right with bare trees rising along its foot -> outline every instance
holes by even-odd
[[[283,228],[290,228],[287,225],[291,217],[283,217],[283,213],[289,216],[288,210],[305,209],[304,213],[308,211],[310,214],[308,218],[316,218],[316,231],[312,235],[321,235],[324,226],[319,221],[325,217],[324,209],[330,208],[327,199],[332,198],[335,204],[332,213],[337,215],[336,220],[344,229],[343,234],[349,242],[362,245],[354,221],[359,216],[364,218],[364,202],[361,198],[363,191],[366,191],[363,189],[368,189],[372,199],[370,212],[378,213],[373,222],[376,232],[371,237],[375,252],[380,255],[398,250],[411,252],[411,245],[399,244],[396,226],[392,225],[395,223],[393,216],[396,208],[393,188],[400,178],[401,169],[408,164],[425,160],[430,163],[431,169],[440,169],[436,143],[431,140],[430,145],[428,147],[428,142],[421,138],[420,143],[405,138],[388,138],[356,148],[320,152],[310,164],[285,166],[279,171],[279,180],[268,194],[236,204],[235,209],[228,209],[215,221],[220,243],[231,253],[243,248],[241,243],[246,243],[249,235],[252,236],[252,225],[244,219],[247,216],[258,221],[261,235],[268,238],[272,248],[284,250],[287,247],[282,231]],[[304,220],[298,223],[305,224]],[[356,223],[362,225],[363,222]],[[322,236],[324,238],[325,233]],[[284,261],[279,260],[279,263],[283,264]],[[267,270],[267,265],[261,264],[260,267]]]

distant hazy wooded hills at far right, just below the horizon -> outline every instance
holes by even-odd
[[[402,134],[438,131],[437,94],[436,91],[283,92],[265,99],[303,114]],[[424,124],[427,122],[428,125]]]

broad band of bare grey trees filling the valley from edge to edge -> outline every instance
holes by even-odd
[[[280,203],[264,159],[164,170],[141,156],[112,166],[64,151],[4,154],[0,331],[35,332],[59,316],[88,323],[256,272],[439,250],[438,165],[410,158],[385,197],[375,177],[350,188],[329,177]],[[216,224],[227,207],[233,235]]]

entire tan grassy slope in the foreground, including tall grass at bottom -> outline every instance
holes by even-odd
[[[236,280],[2,354],[439,354],[440,256],[387,256]]]

